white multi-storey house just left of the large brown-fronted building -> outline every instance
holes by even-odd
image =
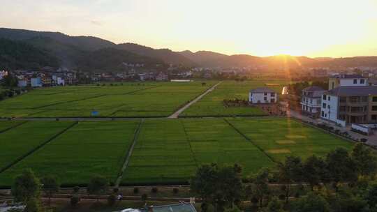
[[[302,90],[302,113],[318,118],[320,114],[321,98],[325,90],[318,86],[310,86]]]

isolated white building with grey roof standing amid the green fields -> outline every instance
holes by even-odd
[[[278,94],[269,88],[253,89],[249,92],[249,103],[251,104],[271,104],[277,103]]]

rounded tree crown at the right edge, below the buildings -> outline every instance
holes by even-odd
[[[377,172],[377,159],[371,149],[362,143],[357,143],[351,152],[357,171],[362,176],[372,176]]]

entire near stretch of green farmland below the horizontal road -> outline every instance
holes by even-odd
[[[1,149],[0,162],[7,165],[68,128],[1,172],[0,185],[11,185],[14,176],[25,168],[33,169],[38,176],[57,175],[64,185],[85,184],[95,174],[114,182],[139,123],[137,119],[29,121],[0,133],[6,146],[6,151]],[[244,176],[248,176],[261,167],[274,167],[288,155],[325,156],[337,147],[353,146],[293,119],[265,117],[145,119],[135,142],[121,179],[124,185],[186,183],[199,165],[210,162],[237,162],[243,167]]]

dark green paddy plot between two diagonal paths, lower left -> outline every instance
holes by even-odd
[[[80,122],[1,173],[1,185],[10,185],[13,177],[26,168],[33,169],[37,176],[59,176],[65,185],[86,184],[95,174],[114,182],[137,125],[138,121]]]

